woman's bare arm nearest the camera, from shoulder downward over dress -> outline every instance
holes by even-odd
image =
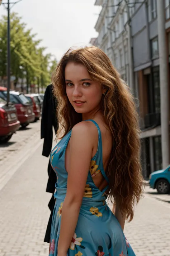
[[[67,193],[61,214],[58,256],[67,255],[79,217],[93,150],[93,136],[90,135],[89,123],[81,122],[74,126],[69,143]]]

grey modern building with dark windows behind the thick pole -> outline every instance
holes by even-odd
[[[160,65],[156,0],[134,13],[132,24],[134,77],[140,102],[143,175],[162,169]],[[170,73],[170,1],[165,0],[167,66]],[[170,84],[169,84],[170,85]],[[169,86],[168,85],[168,86]]]

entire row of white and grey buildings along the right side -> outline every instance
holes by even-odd
[[[164,1],[164,0],[162,0]],[[108,55],[138,98],[143,176],[162,169],[161,95],[157,1],[96,0],[101,5],[95,45]],[[167,65],[170,73],[170,0],[165,0]],[[170,82],[169,85],[170,87]],[[170,91],[170,90],[169,90]]]

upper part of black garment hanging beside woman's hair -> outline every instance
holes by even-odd
[[[44,94],[43,109],[41,117],[41,139],[44,138],[42,155],[48,157],[51,153],[53,140],[53,127],[55,133],[58,129],[56,118],[57,102],[52,93],[52,84],[48,85]]]

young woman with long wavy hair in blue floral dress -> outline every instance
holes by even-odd
[[[49,255],[134,255],[123,234],[142,194],[133,98],[96,47],[67,51],[52,82],[63,133],[51,152],[57,183]]]

